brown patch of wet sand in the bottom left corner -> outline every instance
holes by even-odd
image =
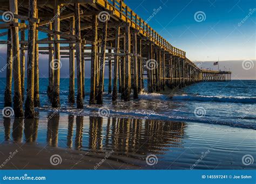
[[[139,169],[140,167],[126,164],[125,159],[110,157],[105,161],[106,154],[82,153],[77,150],[41,146],[35,144],[1,144],[0,163],[5,163],[0,169]],[[10,152],[17,153],[8,159]],[[53,159],[59,155],[61,162]],[[51,159],[52,157],[52,159]],[[52,164],[52,163],[53,164]]]

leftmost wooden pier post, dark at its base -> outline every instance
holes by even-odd
[[[6,86],[4,90],[4,107],[12,107],[11,82],[12,82],[12,44],[11,30],[8,30],[7,58],[6,58]]]

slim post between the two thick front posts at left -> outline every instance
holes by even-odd
[[[25,23],[25,20],[21,20]],[[21,41],[25,41],[25,30],[21,31]],[[22,101],[24,102],[25,91],[25,44],[21,44],[21,87],[22,87]]]

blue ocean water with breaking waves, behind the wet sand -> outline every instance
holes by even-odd
[[[0,83],[0,108],[4,103],[5,79]],[[108,117],[137,117],[164,121],[199,122],[220,124],[245,129],[256,129],[256,80],[233,80],[231,82],[200,82],[183,89],[166,89],[162,94],[147,94],[146,89],[139,100],[112,103],[107,94],[109,80],[104,82],[104,104],[89,105],[90,79],[85,79],[84,110],[68,103],[69,79],[60,79],[59,112],[97,116],[104,109]],[[146,87],[146,80],[144,81]],[[48,79],[40,79],[40,111],[54,111],[47,96]],[[131,95],[132,99],[132,95]]]

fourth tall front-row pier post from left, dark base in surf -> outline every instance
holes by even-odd
[[[80,33],[80,4],[75,1],[75,35],[77,38],[76,54],[77,54],[77,108],[83,109],[83,90],[82,90],[82,43]]]

